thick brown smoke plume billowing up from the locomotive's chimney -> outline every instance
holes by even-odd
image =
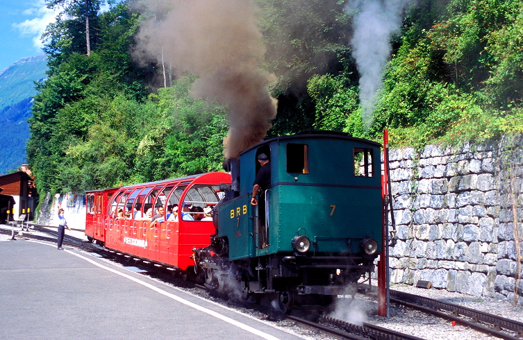
[[[155,9],[157,3],[149,0],[149,8]],[[197,74],[191,95],[229,106],[224,155],[234,158],[261,142],[276,116],[276,100],[267,89],[271,76],[261,68],[265,47],[254,1],[165,3],[169,8],[157,10],[158,16],[140,27],[135,56],[154,56],[176,71]]]

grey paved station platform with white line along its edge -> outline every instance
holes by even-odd
[[[0,241],[0,339],[302,339],[56,244]]]

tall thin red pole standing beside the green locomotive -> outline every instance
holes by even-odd
[[[378,315],[388,317],[388,130],[383,130],[383,175],[381,198],[383,199],[383,225],[381,228],[381,255],[378,261]]]

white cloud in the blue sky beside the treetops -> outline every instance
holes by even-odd
[[[13,27],[20,31],[22,36],[29,36],[33,38],[33,45],[38,49],[44,46],[44,42],[40,39],[45,28],[51,22],[55,22],[56,15],[60,10],[50,10],[46,7],[44,0],[36,0],[31,3],[31,8],[24,10],[24,15],[31,16],[33,19],[26,19],[19,24],[13,24]]]

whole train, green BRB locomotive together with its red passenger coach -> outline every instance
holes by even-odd
[[[262,153],[270,185],[256,194],[263,204],[252,205]],[[380,144],[308,131],[267,139],[226,167],[226,173],[87,192],[85,234],[211,289],[238,291],[243,299],[267,296],[283,312],[329,305],[374,271],[382,239]],[[145,216],[160,206],[163,216]],[[211,208],[212,221],[190,206]],[[176,213],[177,219],[168,216]]]

